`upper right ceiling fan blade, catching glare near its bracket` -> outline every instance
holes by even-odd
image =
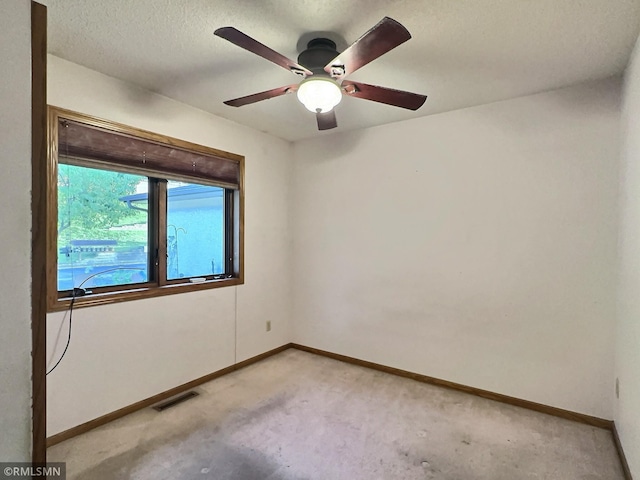
[[[331,60],[324,70],[336,80],[342,80],[410,38],[411,34],[400,23],[393,18],[384,17],[349,48]]]

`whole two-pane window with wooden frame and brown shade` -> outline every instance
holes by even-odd
[[[242,283],[243,157],[49,118],[51,310]]]

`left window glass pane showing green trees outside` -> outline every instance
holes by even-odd
[[[146,282],[147,177],[58,165],[58,290]]]

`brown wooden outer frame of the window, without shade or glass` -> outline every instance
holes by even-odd
[[[135,127],[123,125],[108,120],[99,119],[93,116],[84,115],[71,110],[49,106],[48,107],[48,129],[47,129],[47,273],[46,273],[46,297],[47,310],[50,312],[63,311],[70,307],[71,298],[61,298],[58,292],[58,265],[57,265],[57,224],[58,224],[58,125],[61,119],[80,122],[92,127],[105,129],[114,134],[124,134],[156,144],[177,148],[191,153],[221,157],[226,160],[237,162],[239,168],[239,179],[237,189],[225,188],[225,219],[228,220],[225,228],[225,271],[233,275],[231,278],[210,279],[200,283],[191,283],[186,279],[167,280],[166,262],[159,262],[160,268],[156,270],[157,277],[153,283],[143,285],[117,286],[115,288],[101,289],[99,293],[78,296],[73,299],[73,307],[81,308],[96,305],[105,305],[116,302],[153,298],[164,295],[187,293],[212,288],[241,285],[244,283],[244,157],[234,153],[205,147],[195,143],[179,140],[176,138],[160,135],[157,133],[141,130]],[[114,165],[116,170],[121,170]],[[150,170],[146,173],[149,177],[157,176],[157,172]],[[197,180],[195,180],[197,182]],[[166,189],[162,181],[154,182],[156,190]],[[151,192],[150,192],[151,193]],[[159,208],[166,207],[166,198],[162,192],[152,193],[159,198]],[[163,219],[163,215],[159,215]],[[166,221],[166,218],[164,219]],[[164,245],[166,250],[166,235],[162,235],[161,224],[150,226],[152,235],[156,236],[156,245],[160,248]],[[166,225],[165,225],[166,226]]]

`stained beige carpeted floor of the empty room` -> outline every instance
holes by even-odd
[[[289,349],[48,451],[68,480],[624,479],[611,433]]]

